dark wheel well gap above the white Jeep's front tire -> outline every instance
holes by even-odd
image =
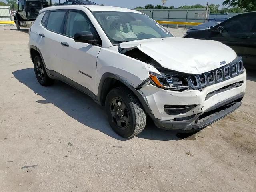
[[[105,105],[105,100],[108,92],[110,92],[110,90],[116,87],[127,87],[127,86],[123,82],[111,77],[108,77],[105,79],[100,92],[100,101],[102,105]]]

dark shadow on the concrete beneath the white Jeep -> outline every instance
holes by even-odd
[[[96,104],[92,98],[86,94],[57,81],[50,87],[41,86],[34,75],[34,68],[22,69],[12,73],[19,82],[25,84],[36,94],[42,96],[45,100],[38,100],[40,104],[52,103],[70,117],[78,122],[99,130],[112,138],[118,140],[127,140],[117,135],[109,126],[107,116],[103,106]],[[177,134],[174,131],[166,131],[157,128],[152,120],[148,120],[146,128],[138,135],[139,138],[150,140],[195,140],[195,135]]]

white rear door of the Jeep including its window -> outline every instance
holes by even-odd
[[[56,76],[62,77],[62,38],[64,35],[64,25],[67,10],[51,10],[42,25],[40,51],[44,58],[46,68],[52,70]],[[44,21],[45,18],[42,19]]]

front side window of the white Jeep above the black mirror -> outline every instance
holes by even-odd
[[[92,34],[95,34],[95,30],[89,22],[87,16],[81,12],[70,11],[68,14],[66,35],[74,37],[74,34],[81,31],[89,31]]]

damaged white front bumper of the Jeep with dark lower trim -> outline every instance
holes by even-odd
[[[242,82],[242,85],[218,91],[238,82]],[[150,112],[147,113],[154,120],[157,127],[172,130],[192,130],[204,128],[236,110],[241,105],[245,89],[246,72],[244,71],[243,74],[207,86],[201,91],[169,91],[150,85],[141,88],[140,94],[148,104]],[[213,92],[216,92],[216,94],[208,97]],[[171,114],[165,111],[165,105],[194,105],[196,107],[188,112]]]

